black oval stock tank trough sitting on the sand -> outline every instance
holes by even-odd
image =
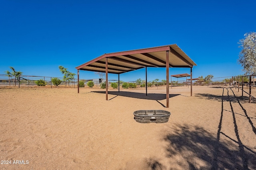
[[[133,114],[134,119],[140,123],[165,123],[171,115],[166,110],[137,110]]]

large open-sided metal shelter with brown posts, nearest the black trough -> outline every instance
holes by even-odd
[[[196,63],[186,55],[176,44],[165,45],[160,47],[152,47],[146,49],[138,49],[131,51],[122,51],[116,53],[108,53],[101,55],[87,63],[77,66],[78,82],[79,70],[106,72],[106,82],[108,82],[108,73],[119,74],[138,70],[147,67],[165,67],[166,82],[169,82],[169,68],[180,67],[190,68],[190,77],[192,77],[192,67]],[[147,83],[147,75],[146,75]],[[106,84],[106,100],[108,100],[108,84]],[[79,85],[78,85],[79,93]],[[146,85],[147,94],[147,85]],[[192,96],[192,86],[191,86]],[[169,86],[166,86],[166,107],[169,107]]]

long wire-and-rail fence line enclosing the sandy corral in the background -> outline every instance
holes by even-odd
[[[242,90],[242,96],[244,96],[244,93],[249,95],[249,103],[251,103],[251,99],[254,98],[256,99],[255,95],[252,95],[252,87],[256,87],[255,85],[252,85],[252,78],[255,77],[256,75],[248,75],[248,76],[228,76],[228,77],[217,77],[217,78],[212,78],[208,82],[202,82],[202,81],[194,81],[192,83],[193,86],[232,86],[235,88],[238,88],[239,90]],[[14,76],[8,77],[8,74],[0,74],[0,86],[37,86],[35,81],[36,80],[44,80],[46,82],[47,86],[54,86],[52,84],[52,78],[56,77],[49,77],[49,76],[28,76],[28,75],[22,75],[20,76],[20,83],[18,82],[18,78],[14,78]],[[62,78],[57,77],[60,80]],[[100,88],[101,79],[90,79],[90,80],[85,80],[85,79],[80,79],[80,81],[84,82],[84,86],[88,86],[87,82],[93,81],[94,82],[94,87],[95,88]],[[109,80],[108,82],[108,87],[110,87],[111,82],[117,82],[118,80]],[[254,81],[254,80],[253,80]],[[141,84],[137,84],[136,81],[131,81],[137,85],[137,87],[140,87]],[[77,79],[74,78],[71,81],[67,82],[61,82],[59,86],[69,86],[69,87],[74,87],[77,88]],[[148,84],[152,84],[151,86],[166,86],[166,82],[148,82]],[[170,82],[169,82],[170,85]],[[177,82],[172,82],[172,85],[177,85],[177,86],[186,86],[190,85],[188,82],[181,80]],[[120,83],[120,86],[122,86],[122,83]],[[246,88],[245,88],[246,87]],[[248,87],[248,88],[247,88]]]

